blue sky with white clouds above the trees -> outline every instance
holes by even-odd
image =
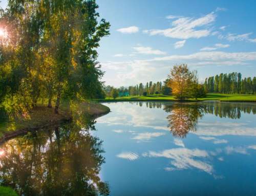
[[[98,49],[106,85],[164,80],[180,63],[197,70],[200,81],[233,71],[256,76],[256,1],[97,3],[111,23]]]

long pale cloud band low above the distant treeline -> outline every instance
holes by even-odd
[[[107,61],[101,63],[106,71],[103,77],[110,85],[134,85],[147,81],[159,81],[174,64],[187,63],[189,67],[200,66],[255,66],[256,52],[204,51],[187,55],[169,55],[129,61]],[[118,81],[118,82],[117,82]]]

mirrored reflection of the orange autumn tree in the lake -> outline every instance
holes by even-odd
[[[198,119],[203,116],[203,110],[197,104],[175,103],[164,106],[164,110],[171,113],[167,116],[170,132],[180,138],[186,137],[189,131],[195,132]]]

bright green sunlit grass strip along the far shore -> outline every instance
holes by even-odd
[[[207,94],[204,98],[187,99],[186,101],[206,101],[206,100],[219,100],[219,101],[250,101],[256,102],[256,95],[240,95],[240,94]],[[167,95],[148,95],[148,96],[129,96],[117,97],[113,99],[107,97],[106,99],[97,99],[95,101],[113,102],[113,101],[178,101],[174,96]]]

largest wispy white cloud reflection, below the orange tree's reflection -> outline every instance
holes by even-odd
[[[175,169],[188,169],[195,167],[197,169],[203,170],[207,173],[212,173],[213,168],[208,163],[200,160],[195,160],[195,158],[206,158],[208,153],[205,150],[200,149],[188,149],[188,148],[173,148],[163,150],[161,152],[150,151],[147,154],[143,154],[147,157],[165,157],[167,159],[172,159],[171,164]]]

